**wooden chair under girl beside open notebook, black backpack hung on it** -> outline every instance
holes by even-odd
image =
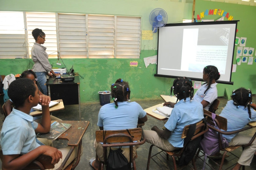
[[[190,126],[190,125],[187,125],[187,126],[184,127],[183,133],[182,133],[182,135],[181,135],[181,138],[182,138],[182,139],[184,139],[184,138],[187,137],[189,126]],[[204,123],[202,120],[201,120],[200,122],[196,123],[196,131],[195,131],[194,135],[192,136],[192,138],[190,139],[190,141],[195,140],[196,138],[200,137],[200,136],[203,135],[207,130],[208,130],[208,128],[205,127],[205,123]],[[165,152],[165,153],[166,153],[166,160],[168,160],[169,155],[172,157],[173,167],[174,167],[174,169],[176,170],[176,169],[177,169],[177,166],[176,166],[176,159],[175,159],[175,157],[180,157],[180,155],[181,155],[182,152],[184,151],[184,149],[185,149],[185,147],[187,146],[187,144],[188,144],[188,143],[186,143],[186,144],[184,143],[183,148],[181,148],[181,149],[179,149],[179,150],[175,150],[175,151],[164,151],[164,150],[162,150],[162,149],[159,148],[159,149],[162,150],[162,151],[160,151],[160,152],[156,153],[155,155],[151,156],[152,148],[153,148],[153,146],[155,146],[155,145],[152,144],[152,145],[150,146],[150,148],[149,148],[149,153],[148,153],[147,170],[149,169],[150,159],[152,159],[153,161],[156,162],[156,160],[154,160],[153,157],[156,156],[156,155],[158,155],[158,154],[160,155],[162,152]],[[161,155],[161,156],[162,156],[162,155]],[[157,156],[156,156],[156,157],[157,157]],[[162,157],[163,157],[163,156],[162,156]],[[157,157],[157,158],[158,158],[158,157]],[[158,159],[159,159],[159,158],[158,158]],[[159,159],[159,161],[161,161],[161,160]],[[162,161],[161,161],[161,162],[162,162]],[[158,166],[160,166],[157,162],[156,162],[156,164],[157,164]],[[196,169],[196,164],[195,164],[194,158],[192,159],[192,164],[193,164],[194,169]],[[160,168],[163,169],[161,166],[160,166]]]

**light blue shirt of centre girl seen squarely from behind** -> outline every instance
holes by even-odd
[[[105,104],[100,108],[98,115],[99,127],[104,130],[123,130],[137,128],[138,118],[146,116],[146,112],[136,102],[117,102]]]

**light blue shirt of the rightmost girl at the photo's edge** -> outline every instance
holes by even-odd
[[[228,130],[226,132],[242,129],[251,121],[256,121],[255,110],[251,109],[251,120],[249,120],[248,108],[246,107],[246,110],[244,110],[244,106],[239,106],[239,108],[237,108],[236,105],[234,105],[233,103],[233,100],[229,100],[222,112],[220,113],[220,116],[228,120]],[[226,138],[228,142],[230,142],[232,138],[235,137],[237,134],[238,133],[222,136]]]

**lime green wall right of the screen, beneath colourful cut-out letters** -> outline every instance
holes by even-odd
[[[216,15],[206,15],[206,10],[212,9],[221,9],[224,12],[229,13],[229,17],[233,16],[234,20],[240,20],[237,24],[238,32],[236,33],[237,37],[247,37],[246,47],[255,48],[253,52],[253,57],[255,59],[255,50],[256,50],[256,32],[255,32],[255,13],[256,6],[247,6],[239,4],[228,4],[228,3],[219,3],[211,1],[196,0],[195,8],[195,18],[197,15],[201,16],[201,13],[204,12],[204,17],[202,19],[219,19],[221,16]],[[229,18],[228,17],[228,18]],[[224,18],[224,20],[228,20]],[[197,20],[201,21],[201,20]],[[239,46],[239,45],[238,45]],[[236,64],[236,50],[235,46],[234,60],[233,64]],[[247,65],[247,63],[241,63],[240,66],[237,66],[236,72],[232,73],[231,81],[234,82],[234,85],[225,85],[218,84],[218,96],[224,96],[224,89],[228,88],[229,93],[231,94],[233,89],[238,89],[244,87],[246,89],[251,89],[252,93],[256,93],[256,63],[253,62],[252,65]]]

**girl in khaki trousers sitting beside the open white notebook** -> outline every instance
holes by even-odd
[[[174,151],[183,147],[181,135],[185,126],[197,123],[204,118],[201,103],[192,101],[194,89],[189,79],[175,79],[173,93],[180,100],[175,104],[170,118],[164,124],[165,130],[153,126],[144,130],[146,142],[165,150]]]

